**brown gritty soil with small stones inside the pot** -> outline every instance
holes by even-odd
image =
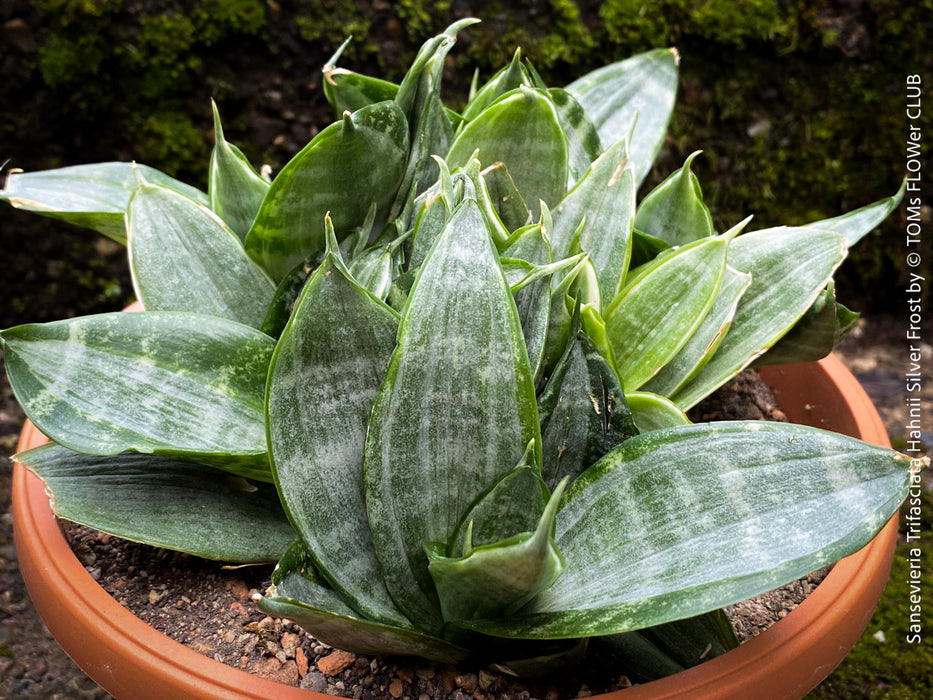
[[[754,372],[737,378],[692,412],[695,421],[785,420]],[[478,666],[358,656],[321,644],[296,625],[258,612],[252,596],[272,568],[217,563],[63,525],[81,563],[121,605],[195,651],[230,666],[330,695],[380,700],[577,698],[631,685],[614,664],[589,656],[559,682],[524,683]],[[729,610],[740,639],[767,629],[822,580],[811,575]]]

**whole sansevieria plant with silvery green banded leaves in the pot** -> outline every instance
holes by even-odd
[[[637,196],[676,52],[563,89],[516,52],[458,113],[441,74],[472,21],[400,85],[338,52],[337,121],[271,181],[216,109],[207,194],[129,163],[10,173],[13,206],[126,243],[145,309],[0,334],[53,441],[16,459],[63,518],[278,561],[259,607],[336,647],[536,674],[590,640],[661,675],[905,498],[889,449],[685,414],[829,352],[854,318],[833,272],[902,192],[719,232],[696,154]]]

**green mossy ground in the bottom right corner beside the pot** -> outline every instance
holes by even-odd
[[[933,494],[923,493],[920,540],[898,545],[891,578],[865,633],[839,668],[807,700],[928,700],[933,697],[933,644],[907,641],[910,570],[919,564],[923,591],[933,590]],[[902,520],[903,522],[903,520]],[[902,525],[902,540],[904,528]],[[916,583],[916,581],[915,581]],[[929,633],[929,600],[924,600]],[[880,633],[880,634],[879,634]],[[883,635],[883,641],[881,636]]]

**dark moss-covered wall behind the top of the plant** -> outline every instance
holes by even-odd
[[[933,83],[933,0],[13,0],[0,21],[24,21],[34,47],[3,49],[15,77],[0,87],[0,157],[136,159],[201,184],[213,97],[228,138],[278,168],[330,120],[319,69],[348,34],[342,65],[397,80],[421,41],[470,15],[483,23],[451,53],[454,104],[474,67],[488,76],[516,46],[555,85],[676,46],[682,89],[652,180],[703,149],[694,170],[721,227],[748,213],[802,224],[892,194],[905,78]],[[926,134],[931,122],[933,103]],[[905,274],[904,226],[899,212],[853,252],[840,275],[853,306],[895,303],[878,290]]]

